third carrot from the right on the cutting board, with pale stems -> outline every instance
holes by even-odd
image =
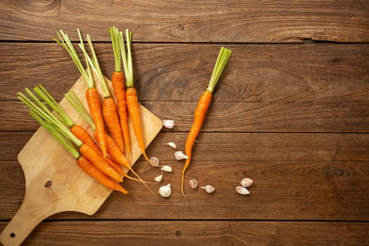
[[[117,113],[117,105],[115,105],[114,99],[110,96],[110,91],[105,82],[105,77],[103,76],[103,72],[101,72],[100,65],[98,64],[98,58],[96,57],[95,49],[93,48],[93,44],[92,44],[89,34],[86,35],[86,39],[89,44],[92,58],[89,57],[89,55],[86,53],[86,50],[82,50],[82,51],[84,52],[84,55],[86,56],[87,60],[89,60],[89,63],[93,71],[98,76],[98,79],[101,83],[101,87],[103,88],[103,96],[104,96],[103,117],[108,126],[108,129],[110,130],[110,133],[112,134],[113,138],[117,142],[119,148],[121,150],[124,150],[123,134],[122,134],[122,129],[120,127],[119,117]],[[96,128],[97,128],[97,125],[96,125]],[[99,134],[102,134],[102,133],[103,132],[100,132]]]

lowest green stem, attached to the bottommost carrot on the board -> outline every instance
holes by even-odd
[[[46,131],[48,131],[48,133],[51,134],[51,136],[53,136],[53,138],[55,138],[60,143],[60,145],[65,148],[65,150],[67,150],[76,159],[79,158],[80,154],[77,148],[75,148],[75,145],[72,145],[72,143],[63,136],[63,134],[60,134],[60,131],[58,131],[58,129],[54,127],[53,124],[47,122],[34,110],[30,110],[30,115],[32,115],[32,117],[34,117],[34,119],[36,119],[37,122],[41,124],[41,127],[44,127],[44,129],[46,129]]]

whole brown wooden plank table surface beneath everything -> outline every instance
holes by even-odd
[[[105,75],[114,70],[108,27],[134,32],[141,103],[161,119],[148,155],[170,198],[125,181],[93,214],[63,212],[24,245],[368,245],[369,1],[0,2],[0,230],[25,193],[17,155],[39,125],[16,98],[44,84],[58,101],[79,72],[58,44],[89,33]],[[214,92],[186,179],[215,186],[180,192],[198,97],[221,46],[233,53]],[[158,170],[141,157],[144,179]],[[235,193],[253,179],[250,195]],[[157,186],[153,186],[154,189]]]

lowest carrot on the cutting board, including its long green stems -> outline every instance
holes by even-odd
[[[28,91],[27,93],[29,93]],[[33,96],[32,96],[33,98]],[[18,99],[25,103],[28,107],[31,108],[30,115],[36,119],[48,133],[55,138],[60,145],[65,148],[73,157],[75,157],[77,164],[82,168],[87,174],[89,174],[93,179],[101,183],[103,186],[107,188],[111,188],[113,190],[118,190],[124,194],[127,194],[127,190],[119,186],[118,183],[112,181],[108,176],[106,176],[101,170],[97,169],[91,162],[86,162],[85,157],[81,155],[79,150],[70,142],[70,136],[67,136],[67,130],[64,129],[65,125],[61,124],[56,120],[55,115],[51,116],[48,112],[44,111],[43,107],[39,107],[32,103],[24,94],[18,93]],[[38,102],[37,102],[38,103]],[[66,138],[67,137],[67,138]],[[73,143],[80,144],[78,139],[74,138]]]

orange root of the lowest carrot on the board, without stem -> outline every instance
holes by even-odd
[[[112,181],[109,179],[108,176],[103,174],[99,169],[97,169],[86,157],[81,155],[77,159],[77,164],[79,167],[82,168],[87,174],[93,177],[93,179],[96,179],[99,183],[102,183],[105,187],[108,187],[112,190],[120,191],[121,193],[127,194],[128,191],[124,189],[122,186],[119,186],[118,183],[115,181]]]

